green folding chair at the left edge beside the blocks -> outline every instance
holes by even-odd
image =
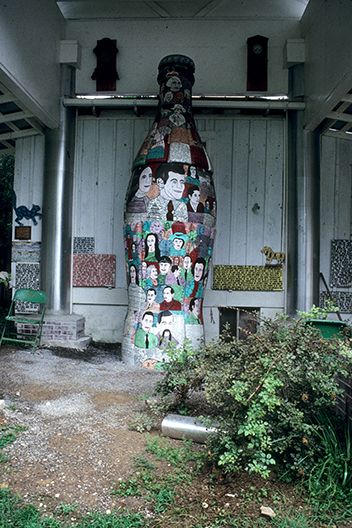
[[[26,303],[26,310],[23,305]],[[30,303],[30,305],[28,305]],[[22,312],[20,312],[22,308]],[[42,290],[21,288],[15,291],[8,315],[0,338],[3,342],[32,345],[35,350],[42,336],[44,314],[46,308],[46,293]]]

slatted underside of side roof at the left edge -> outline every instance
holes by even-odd
[[[0,83],[0,155],[13,151],[16,139],[42,132],[33,113]]]

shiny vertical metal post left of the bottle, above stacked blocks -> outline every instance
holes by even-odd
[[[72,71],[62,67],[62,95]],[[67,92],[66,92],[67,93]],[[60,125],[45,134],[42,288],[47,312],[70,313],[72,260],[72,196],[75,110],[60,102]]]

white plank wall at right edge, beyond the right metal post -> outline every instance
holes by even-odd
[[[351,238],[352,143],[349,140],[322,136],[320,178],[320,271],[329,283],[331,240]],[[324,291],[323,284],[320,288]]]

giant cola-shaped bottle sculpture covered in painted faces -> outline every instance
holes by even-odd
[[[203,340],[215,235],[212,168],[192,115],[194,63],[159,64],[159,107],[132,167],[125,206],[128,312],[122,357],[153,366],[170,343]]]

